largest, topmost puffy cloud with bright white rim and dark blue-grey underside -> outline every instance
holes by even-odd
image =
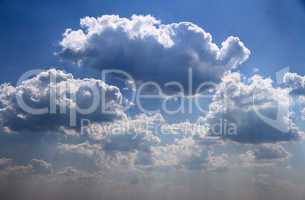
[[[238,37],[230,36],[218,47],[210,33],[191,22],[162,24],[150,15],[103,15],[85,17],[80,24],[81,29],[63,34],[58,55],[81,66],[120,69],[136,80],[186,85],[191,67],[194,84],[219,81],[250,55]]]

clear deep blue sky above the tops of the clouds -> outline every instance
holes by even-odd
[[[273,75],[282,67],[302,73],[305,65],[305,5],[301,0],[205,1],[0,1],[1,82],[14,82],[31,68],[61,66],[53,53],[63,31],[79,26],[84,16],[151,14],[163,23],[191,21],[210,32],[214,41],[230,35],[251,49],[242,71],[259,68]]]

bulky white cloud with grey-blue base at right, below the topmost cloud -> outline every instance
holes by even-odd
[[[240,142],[296,139],[299,130],[290,118],[289,89],[275,88],[272,80],[239,73],[222,79],[204,119],[210,134]]]

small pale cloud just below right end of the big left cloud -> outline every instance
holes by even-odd
[[[104,149],[109,151],[148,151],[151,145],[160,143],[158,127],[163,123],[165,121],[160,114],[140,114],[110,123],[92,123],[83,127],[83,134],[103,144]]]

